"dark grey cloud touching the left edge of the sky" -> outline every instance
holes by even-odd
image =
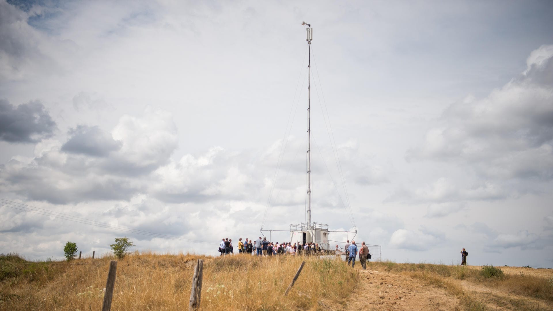
[[[56,123],[39,101],[17,107],[0,99],[0,140],[33,143],[52,136]]]

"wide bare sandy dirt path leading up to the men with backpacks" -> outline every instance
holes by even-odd
[[[459,299],[402,274],[360,270],[361,284],[341,310],[461,310]],[[333,306],[333,309],[338,309]]]

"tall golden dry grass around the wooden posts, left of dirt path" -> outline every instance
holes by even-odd
[[[205,310],[310,309],[320,300],[345,300],[358,278],[344,262],[316,257],[141,253],[118,262],[113,310],[186,309],[198,258],[205,260],[201,298]],[[6,277],[0,284],[0,309],[101,309],[109,261],[113,259],[51,262],[46,265],[49,272],[39,279],[20,273]],[[298,281],[284,297],[304,260]]]

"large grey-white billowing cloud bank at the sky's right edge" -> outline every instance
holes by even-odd
[[[553,178],[553,45],[534,50],[519,77],[483,99],[452,103],[408,160],[458,161],[494,179]]]

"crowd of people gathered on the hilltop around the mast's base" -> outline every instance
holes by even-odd
[[[267,240],[267,237],[259,237],[255,241],[253,241],[252,239],[246,239],[246,241],[242,241],[242,238],[240,238],[238,239],[237,248],[238,253],[245,253],[251,256],[295,256],[296,254],[311,256],[323,255],[325,253],[325,251],[322,250],[322,248],[319,246],[319,243],[305,242],[304,245],[302,245],[301,242],[270,242]],[[219,252],[221,253],[221,256],[233,254],[234,246],[232,245],[232,239],[228,239],[228,237],[223,239],[219,246]],[[355,241],[351,241],[351,243],[349,243],[348,240],[346,242],[346,246],[343,248],[343,251],[342,248],[336,245],[335,254],[342,255],[342,253],[346,254],[348,265],[351,264],[352,267],[355,266],[355,258],[357,255],[359,255],[359,262],[361,262],[361,266],[363,267],[363,269],[367,268],[367,258],[371,258],[369,248],[365,244],[365,242],[362,242],[361,247],[357,247]]]

